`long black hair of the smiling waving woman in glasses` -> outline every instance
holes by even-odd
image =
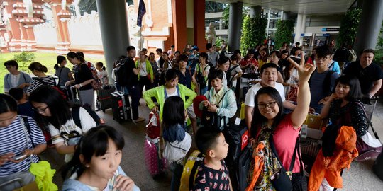
[[[259,128],[261,128],[261,125],[267,122],[267,118],[264,117],[260,113],[260,109],[257,107],[258,105],[258,98],[260,95],[266,94],[267,96],[270,96],[273,100],[277,102],[277,105],[279,107],[279,112],[277,113],[277,116],[274,118],[274,122],[272,123],[272,127],[277,127],[279,122],[282,120],[283,117],[283,105],[282,105],[282,98],[279,92],[272,87],[263,87],[260,88],[260,90],[257,92],[257,95],[255,95],[255,107],[252,115],[252,122],[251,122],[251,137],[256,137],[257,132]]]

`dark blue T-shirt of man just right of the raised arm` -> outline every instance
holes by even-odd
[[[328,73],[328,70],[323,73],[318,73],[318,71],[314,71],[313,74],[311,74],[311,81],[310,81],[310,93],[311,93],[311,102],[310,107],[315,109],[315,112],[321,112],[323,108],[323,104],[318,104],[318,102],[325,98],[326,91],[323,90],[323,83],[326,79],[326,75]],[[335,79],[338,78],[338,73],[334,72],[330,76],[330,89],[332,90],[335,87]]]

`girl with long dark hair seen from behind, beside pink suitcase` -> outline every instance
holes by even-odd
[[[184,100],[179,96],[171,96],[165,100],[162,116],[162,137],[166,141],[164,157],[170,161],[170,169],[173,172],[171,190],[179,190],[182,170],[184,169],[184,157],[191,146],[191,137],[185,131],[185,119],[187,113],[184,108]]]

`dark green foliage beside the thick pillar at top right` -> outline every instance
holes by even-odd
[[[340,28],[337,40],[337,47],[341,47],[343,43],[346,45],[354,45],[357,28],[360,23],[360,15],[362,9],[353,8],[345,13],[342,21],[340,21]]]

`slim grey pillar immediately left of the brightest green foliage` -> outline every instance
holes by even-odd
[[[240,48],[240,28],[242,28],[242,2],[230,4],[228,51],[233,52]]]

